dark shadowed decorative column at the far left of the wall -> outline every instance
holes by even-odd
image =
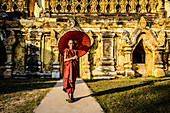
[[[12,68],[13,68],[13,62],[12,62],[12,45],[15,43],[15,33],[14,31],[10,32],[9,37],[5,37],[3,40],[5,48],[6,48],[6,54],[7,54],[7,61],[5,62],[5,72],[4,72],[4,78],[10,78],[12,76]]]

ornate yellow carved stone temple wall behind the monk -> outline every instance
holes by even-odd
[[[170,72],[170,19],[162,0],[14,1],[0,3],[3,77],[62,77],[58,41],[69,31],[91,40],[79,61],[82,78]]]

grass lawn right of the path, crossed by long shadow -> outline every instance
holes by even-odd
[[[105,113],[170,113],[170,77],[85,82]]]

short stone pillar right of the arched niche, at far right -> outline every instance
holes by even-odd
[[[154,75],[155,77],[162,77],[165,76],[165,72],[164,72],[164,66],[163,66],[163,62],[162,62],[162,51],[164,50],[164,48],[162,47],[157,47],[155,49],[155,70],[154,70]]]

